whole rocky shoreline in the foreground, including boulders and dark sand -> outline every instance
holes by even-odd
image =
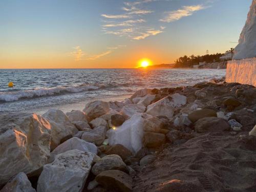
[[[0,115],[0,191],[255,191],[256,88],[143,89]]]

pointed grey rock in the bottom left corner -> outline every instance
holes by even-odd
[[[36,192],[25,173],[17,174],[0,190],[1,192]]]

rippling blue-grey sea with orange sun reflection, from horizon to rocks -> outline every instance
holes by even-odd
[[[81,110],[91,100],[122,100],[139,89],[188,86],[225,73],[217,69],[0,70],[0,113]]]

